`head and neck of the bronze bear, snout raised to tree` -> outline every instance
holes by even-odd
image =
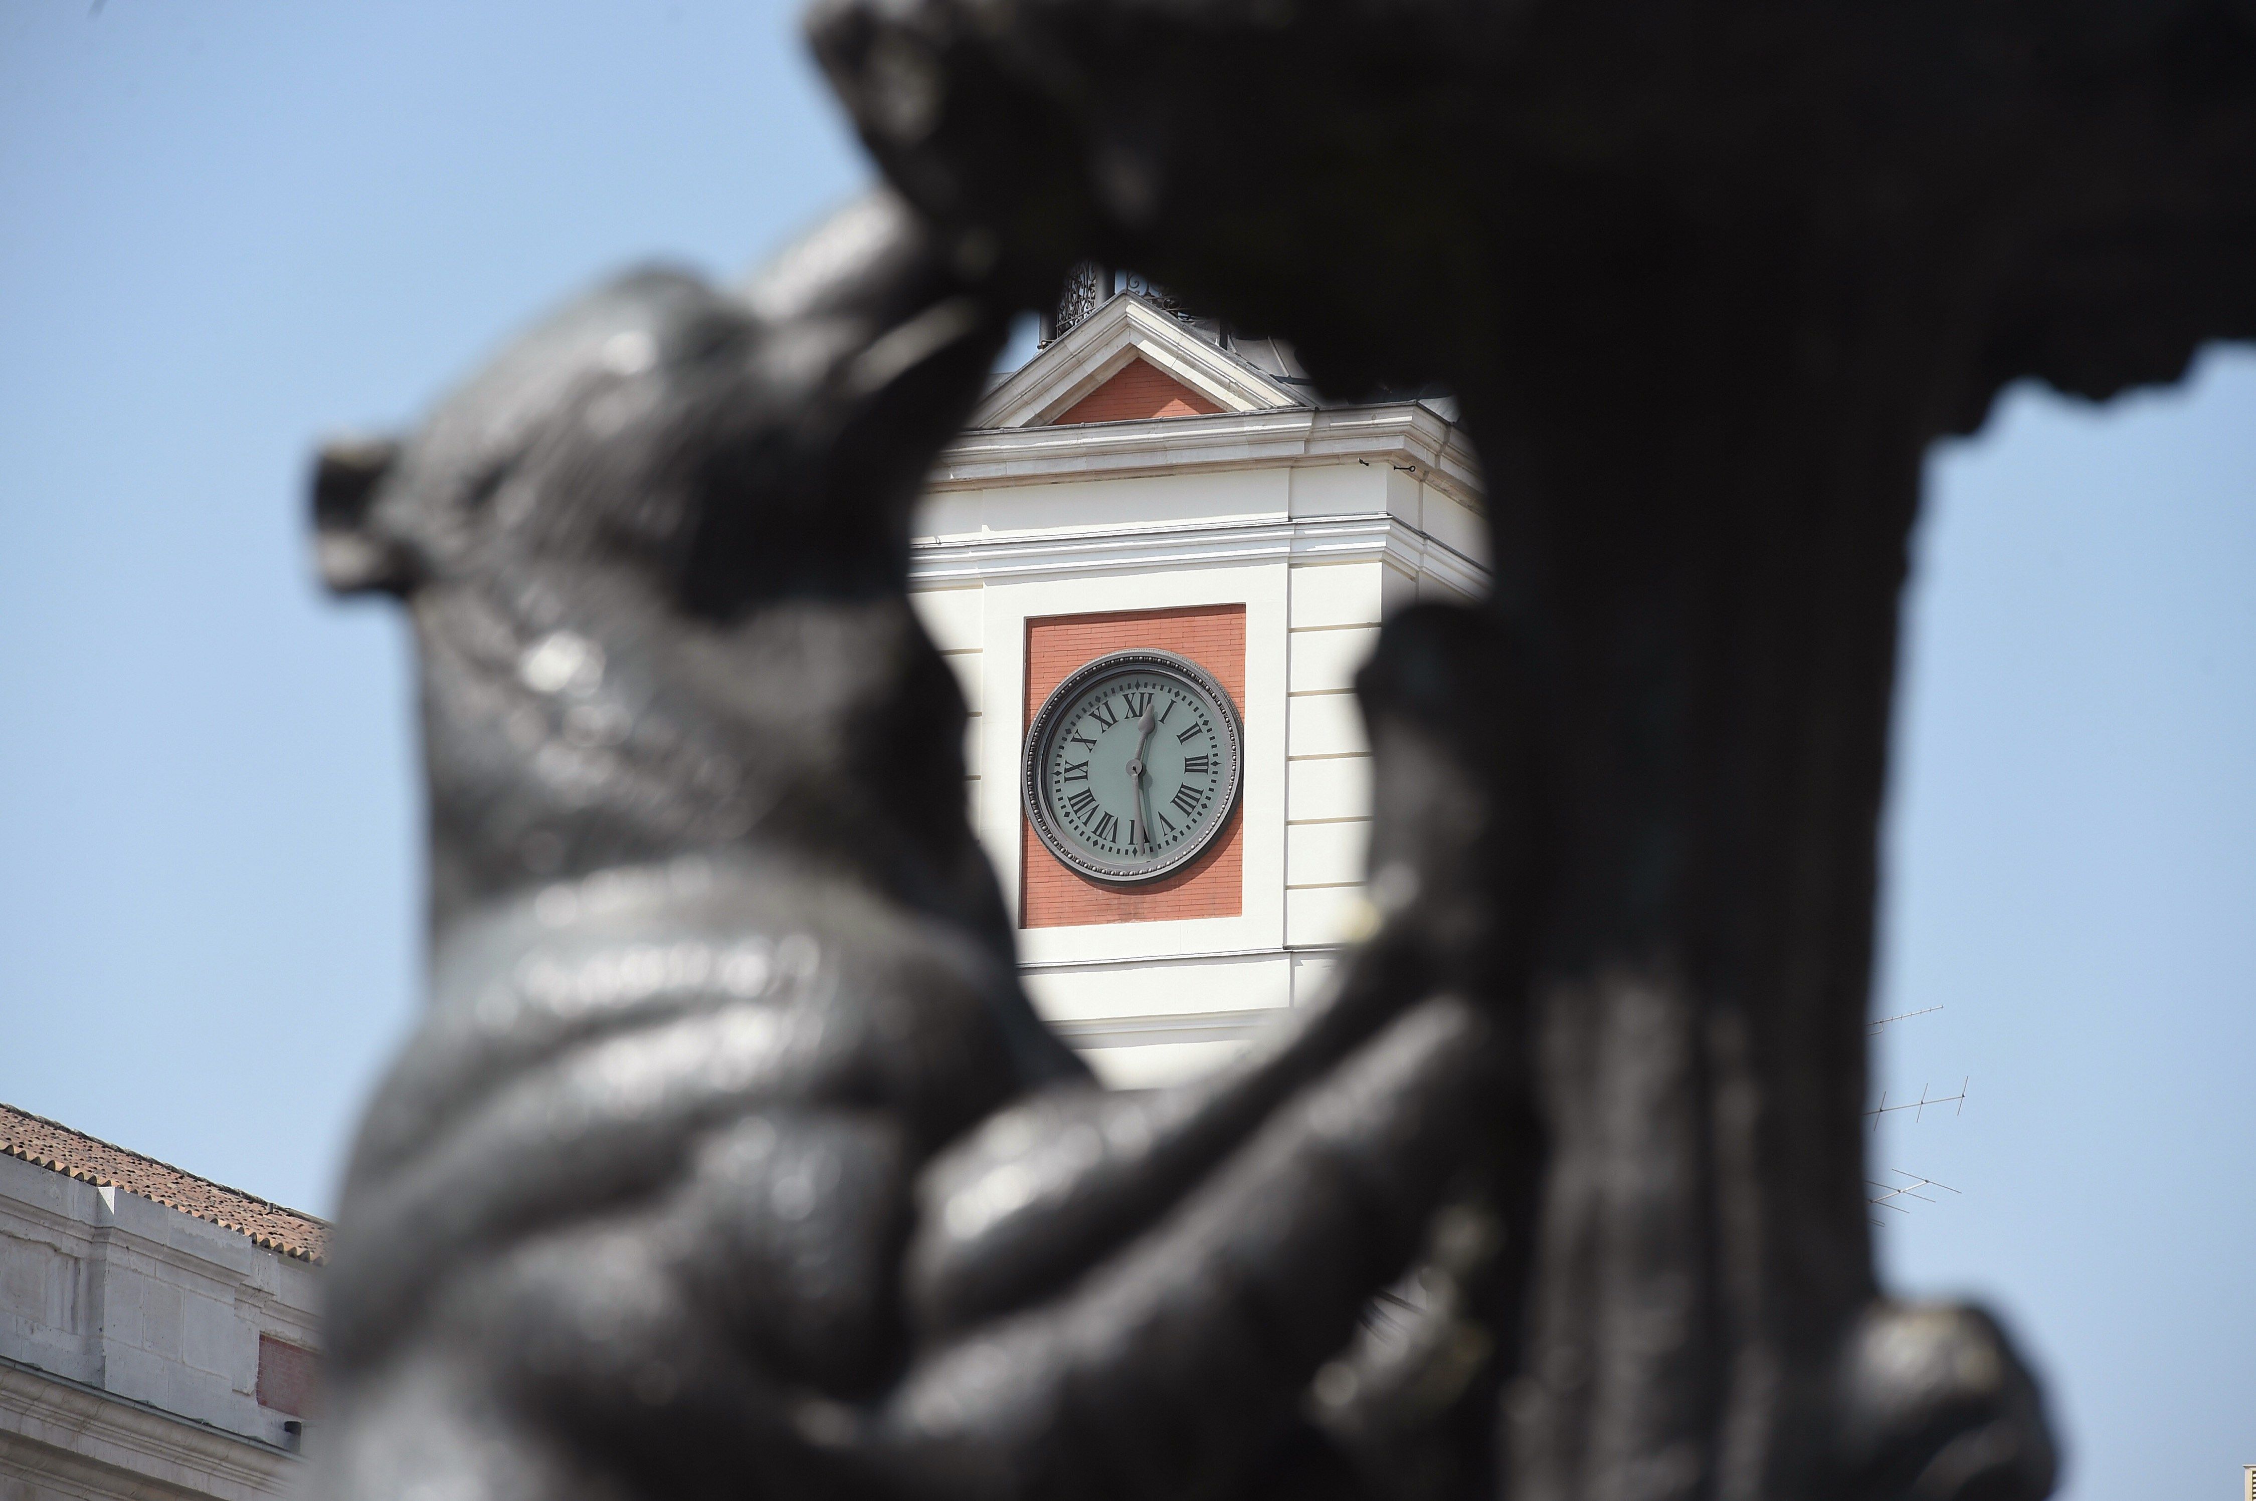
[[[999,334],[875,198],[742,295],[618,277],[408,439],[323,451],[325,581],[415,620],[438,926],[749,843],[999,929],[961,694],[905,595]]]

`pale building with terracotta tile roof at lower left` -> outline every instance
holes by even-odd
[[[287,1494],[325,1251],[309,1215],[0,1104],[0,1496]]]

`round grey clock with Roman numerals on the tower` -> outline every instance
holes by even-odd
[[[1239,798],[1239,710],[1173,651],[1114,651],[1067,674],[1026,728],[1026,818],[1099,881],[1198,856]]]

